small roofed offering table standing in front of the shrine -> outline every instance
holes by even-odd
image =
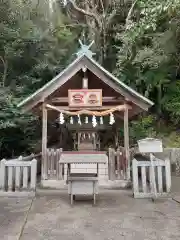
[[[93,203],[96,204],[98,194],[99,164],[107,163],[105,152],[71,152],[62,153],[59,163],[67,164],[68,190],[73,204],[75,195],[93,195]],[[96,164],[96,173],[71,173],[71,164]]]

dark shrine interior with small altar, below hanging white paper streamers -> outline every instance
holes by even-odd
[[[87,116],[86,116],[87,118]],[[97,126],[92,126],[92,117],[81,116],[82,124],[78,124],[74,117],[74,123],[70,124],[67,117],[64,124],[59,123],[57,116],[55,121],[48,121],[48,147],[63,148],[64,150],[107,150],[109,147],[123,146],[123,121],[115,117],[116,122],[109,124],[109,117],[103,118],[103,124],[97,117]]]

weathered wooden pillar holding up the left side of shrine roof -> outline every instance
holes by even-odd
[[[45,103],[42,105],[42,163],[41,179],[47,179],[47,109]]]

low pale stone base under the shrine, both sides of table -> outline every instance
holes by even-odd
[[[123,189],[129,188],[131,186],[131,182],[128,180],[99,180],[99,187],[105,189]],[[49,188],[49,189],[68,189],[65,180],[41,180],[41,187],[42,188]]]

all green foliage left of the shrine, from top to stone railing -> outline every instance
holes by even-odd
[[[40,122],[17,103],[59,73],[76,47],[78,29],[55,14],[49,1],[0,2],[0,158],[33,151]]]

